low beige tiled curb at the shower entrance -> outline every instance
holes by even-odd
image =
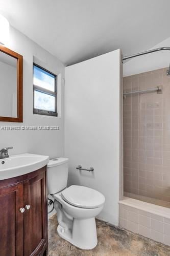
[[[170,208],[123,197],[119,227],[170,246]]]

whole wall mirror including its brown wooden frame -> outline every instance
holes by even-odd
[[[0,121],[22,122],[22,56],[0,46]]]

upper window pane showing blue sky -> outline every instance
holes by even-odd
[[[55,92],[55,76],[37,66],[34,66],[33,83],[35,86]]]

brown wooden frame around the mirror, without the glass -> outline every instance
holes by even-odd
[[[11,57],[17,59],[17,117],[5,117],[0,116],[0,121],[3,122],[22,122],[22,69],[23,69],[23,58],[22,55],[6,48],[5,46],[0,45],[0,52],[4,52]]]

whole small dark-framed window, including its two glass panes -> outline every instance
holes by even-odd
[[[33,63],[33,113],[57,116],[57,76]]]

